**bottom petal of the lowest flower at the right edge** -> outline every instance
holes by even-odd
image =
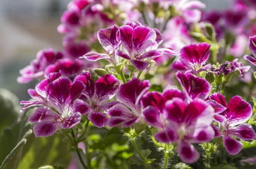
[[[244,145],[235,138],[228,135],[222,135],[222,138],[223,145],[229,154],[236,155],[243,149]]]

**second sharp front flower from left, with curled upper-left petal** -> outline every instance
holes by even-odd
[[[102,112],[119,103],[119,101],[106,102],[115,96],[119,88],[119,80],[112,74],[107,74],[94,83],[90,73],[85,72],[76,76],[74,82],[78,81],[86,86],[82,95],[86,96],[88,101],[77,99],[73,105],[74,111],[82,115],[88,114],[88,119],[96,127],[105,127],[108,124],[108,117]]]

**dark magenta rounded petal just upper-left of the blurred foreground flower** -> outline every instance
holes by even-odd
[[[142,107],[153,106],[156,108],[158,113],[162,113],[164,109],[165,101],[163,100],[163,96],[158,92],[148,92],[141,99]]]

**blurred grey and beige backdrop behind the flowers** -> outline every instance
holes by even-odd
[[[201,0],[207,8],[222,10],[232,0]],[[20,100],[30,99],[27,89],[35,83],[18,84],[19,70],[35,59],[43,48],[61,50],[57,32],[60,17],[70,0],[0,1],[0,87],[11,90]]]

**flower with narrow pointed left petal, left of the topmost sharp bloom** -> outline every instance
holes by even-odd
[[[121,59],[115,54],[116,49],[119,48],[120,45],[119,37],[116,36],[118,29],[118,26],[113,25],[113,27],[100,29],[98,31],[98,39],[102,47],[105,49],[105,54],[99,54],[97,52],[90,51],[80,58],[85,58],[89,61],[106,59],[113,65],[120,63]]]

